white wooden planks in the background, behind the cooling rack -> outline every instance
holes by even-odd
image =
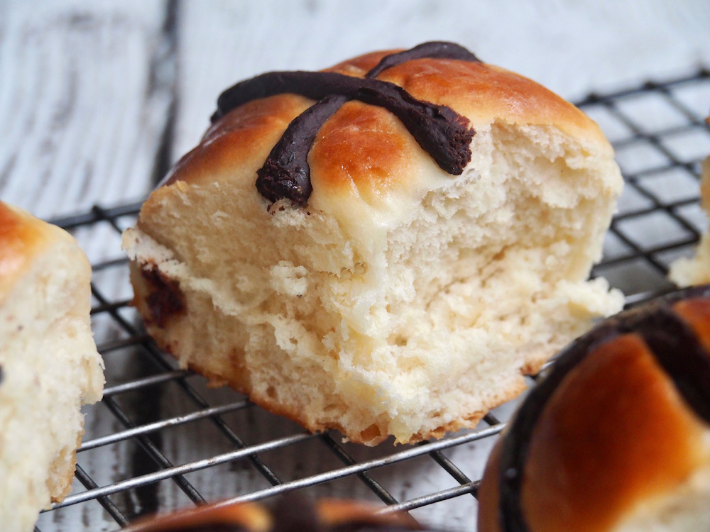
[[[704,1],[0,0],[0,13],[0,197],[43,217],[145,194],[163,141],[175,160],[222,89],[267,70],[455,40],[574,99],[710,60]]]

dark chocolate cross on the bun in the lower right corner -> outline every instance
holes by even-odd
[[[710,286],[679,290],[608,318],[559,354],[545,379],[530,391],[518,409],[503,440],[498,506],[503,532],[529,532],[520,504],[520,488],[532,431],[557,386],[596,345],[626,333],[640,334],[684,401],[710,423],[710,355],[692,328],[672,309],[677,301],[697,297],[710,297]]]

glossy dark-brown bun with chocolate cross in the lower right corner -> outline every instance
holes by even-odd
[[[486,466],[479,532],[710,530],[710,287],[604,321]]]

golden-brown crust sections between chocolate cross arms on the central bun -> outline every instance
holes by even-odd
[[[355,57],[328,70],[362,77],[388,53]],[[420,59],[385,70],[378,79],[400,85],[417,99],[452,107],[474,128],[486,128],[493,121],[556,126],[583,144],[609,149],[596,123],[575,106],[540,84],[493,65]],[[230,111],[209,128],[200,146],[183,157],[168,183],[228,179],[226,170],[234,169],[235,163],[242,177],[256,179],[256,170],[288,123],[310,104],[285,94]],[[391,113],[351,101],[327,121],[311,150],[313,197],[317,201],[319,194],[339,195],[354,188],[367,201],[393,186],[405,187],[411,174],[408,166],[425,160],[428,155]]]

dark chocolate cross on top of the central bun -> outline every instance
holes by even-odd
[[[212,122],[248,101],[275,94],[300,94],[318,100],[286,128],[258,170],[256,188],[270,201],[288,198],[304,206],[312,192],[308,153],[322,125],[349,100],[384,107],[397,116],[437,165],[459,175],[471,160],[475,131],[469,121],[447,106],[420,101],[404,89],[373,79],[383,70],[425,57],[480,62],[457,44],[423,43],[383,59],[364,79],[335,72],[269,72],[235,84],[220,94]]]

